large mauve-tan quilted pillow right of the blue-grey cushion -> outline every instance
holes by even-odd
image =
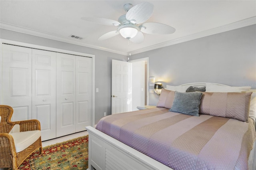
[[[207,86],[206,86],[207,87]],[[250,93],[202,92],[199,113],[248,121]]]

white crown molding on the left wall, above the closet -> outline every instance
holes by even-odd
[[[37,31],[37,30],[24,28],[24,27],[8,24],[8,23],[5,23],[5,22],[0,22],[0,28],[5,29],[5,30],[20,32],[20,33],[24,33],[24,34],[30,34],[32,36],[48,38],[48,39],[56,40],[56,41],[60,41],[60,42],[72,43],[72,44],[81,45],[81,46],[84,46],[84,47],[90,47],[90,48],[100,49],[100,50],[108,51],[108,52],[112,52],[112,53],[118,53],[118,54],[121,54],[121,55],[127,55],[127,53],[123,52],[123,51],[117,51],[117,50],[114,50],[114,49],[101,47],[101,46],[94,45],[94,44],[85,43],[85,42],[82,42],[80,40],[71,40],[70,38],[65,38],[65,37],[62,37],[62,36],[56,36],[54,34],[49,34],[49,33],[46,33],[46,32],[40,32],[40,31]]]

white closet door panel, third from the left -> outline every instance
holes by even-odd
[[[76,132],[76,56],[57,53],[56,137]]]

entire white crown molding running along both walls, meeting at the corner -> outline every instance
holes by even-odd
[[[214,34],[226,32],[226,31],[230,31],[230,30],[235,30],[235,29],[238,29],[238,28],[242,28],[242,27],[246,27],[246,26],[250,26],[250,25],[254,25],[254,24],[256,24],[256,16],[251,17],[251,18],[247,18],[247,19],[244,19],[244,20],[240,20],[238,22],[234,22],[234,23],[231,23],[231,24],[227,24],[227,25],[224,25],[224,26],[212,28],[210,30],[204,30],[202,32],[198,32],[198,33],[195,33],[195,34],[184,36],[182,38],[177,38],[177,39],[174,39],[174,40],[170,40],[170,41],[163,42],[163,43],[158,43],[156,45],[148,46],[148,47],[137,49],[137,50],[134,50],[134,51],[129,51],[127,53],[123,52],[123,51],[118,51],[118,50],[106,48],[106,47],[101,47],[101,46],[94,45],[94,44],[85,43],[85,42],[82,42],[82,41],[79,41],[79,40],[71,40],[69,38],[64,38],[64,37],[61,37],[61,36],[56,36],[56,35],[53,35],[53,34],[40,32],[40,31],[37,31],[37,30],[32,30],[32,29],[28,29],[28,28],[24,28],[24,27],[20,27],[20,26],[15,26],[15,25],[12,25],[12,24],[7,24],[7,23],[4,23],[4,22],[0,22],[0,28],[6,29],[6,30],[11,30],[11,31],[16,31],[16,32],[24,33],[24,34],[30,34],[30,35],[33,35],[33,36],[39,36],[39,37],[42,37],[42,38],[48,38],[48,39],[51,39],[51,40],[56,40],[56,41],[81,45],[81,46],[84,46],[84,47],[100,49],[100,50],[108,51],[108,52],[112,52],[112,53],[118,53],[118,54],[121,54],[121,55],[128,55],[129,53],[131,53],[131,55],[133,55],[133,54],[142,53],[142,52],[145,52],[145,51],[150,51],[150,50],[153,50],[153,49],[167,47],[167,46],[182,43],[182,42],[187,42],[187,41],[190,41],[190,40],[195,40],[197,38],[202,38],[202,37],[211,36],[211,35],[214,35]]]

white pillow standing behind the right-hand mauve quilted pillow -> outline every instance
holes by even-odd
[[[206,83],[206,92],[244,92],[250,90],[252,87],[235,87],[235,86],[222,86],[211,83]]]

